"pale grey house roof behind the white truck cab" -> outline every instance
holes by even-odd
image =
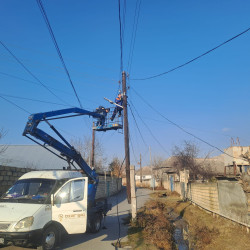
[[[0,165],[41,170],[67,167],[66,161],[39,145],[0,145],[0,152],[5,147],[6,150],[0,154]]]

